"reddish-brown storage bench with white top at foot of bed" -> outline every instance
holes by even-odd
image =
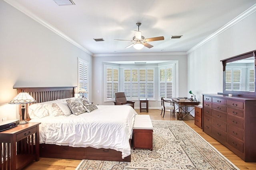
[[[153,150],[153,125],[149,115],[135,116],[133,148]]]

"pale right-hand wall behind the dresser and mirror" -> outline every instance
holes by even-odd
[[[220,60],[256,50],[256,12],[188,54],[188,89],[202,102],[202,93],[222,92]]]

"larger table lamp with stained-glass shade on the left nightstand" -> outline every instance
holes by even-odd
[[[22,120],[20,121],[20,125],[24,125],[26,123],[28,123],[25,119],[24,119],[24,114],[25,114],[25,110],[26,110],[26,104],[28,103],[34,103],[36,102],[36,100],[34,100],[32,98],[32,96],[30,96],[28,93],[26,92],[20,92],[14,99],[12,99],[12,101],[9,102],[9,104],[22,104],[21,105],[21,113],[22,113]]]

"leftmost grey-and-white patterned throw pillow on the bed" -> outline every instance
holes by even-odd
[[[66,102],[74,115],[80,115],[86,112],[80,99],[67,99]]]

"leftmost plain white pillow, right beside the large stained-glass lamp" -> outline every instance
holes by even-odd
[[[51,110],[51,104],[32,104],[28,106],[28,115],[30,119],[42,118],[48,116]]]

